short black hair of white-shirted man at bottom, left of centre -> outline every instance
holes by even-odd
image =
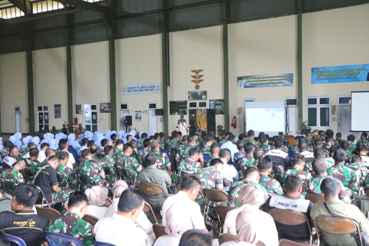
[[[126,189],[122,192],[118,202],[118,211],[128,213],[142,206],[145,194],[139,190]]]

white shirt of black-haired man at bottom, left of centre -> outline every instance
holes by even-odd
[[[139,228],[130,218],[117,213],[100,219],[94,226],[94,232],[98,242],[111,243],[116,246],[150,245],[143,229]]]

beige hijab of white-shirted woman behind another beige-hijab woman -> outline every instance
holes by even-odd
[[[241,206],[249,204],[259,207],[264,203],[264,194],[254,184],[244,184],[239,188],[238,200]]]

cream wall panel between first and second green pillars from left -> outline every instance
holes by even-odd
[[[68,98],[66,79],[66,49],[41,49],[33,52],[33,73],[35,91],[36,130],[37,106],[46,105],[49,109],[49,129],[61,129],[68,122]],[[61,105],[62,117],[55,119],[54,104]]]

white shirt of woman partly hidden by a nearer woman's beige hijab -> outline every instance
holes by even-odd
[[[243,209],[248,209],[253,211],[260,218],[256,221],[258,226],[258,233],[261,233],[261,241],[267,246],[277,246],[278,245],[278,233],[272,216],[269,213],[261,211],[256,206],[249,204],[242,205],[239,208],[232,209],[227,213],[224,219],[223,233],[228,233],[232,235],[237,235],[236,232],[236,218],[239,212]],[[223,244],[222,244],[223,245]]]

